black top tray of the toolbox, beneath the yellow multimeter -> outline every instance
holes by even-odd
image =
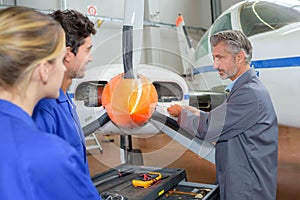
[[[139,165],[123,164],[114,169],[109,169],[100,174],[92,177],[94,183],[107,180],[118,174],[119,171],[133,171],[132,174],[114,178],[112,180],[103,182],[96,186],[99,194],[119,194],[125,197],[127,200],[154,200],[159,198],[169,189],[173,188],[180,181],[186,179],[186,172],[184,169],[177,168],[158,168],[147,167]],[[153,184],[148,188],[134,187],[132,180],[141,174],[148,172],[159,172],[162,175],[162,180]]]

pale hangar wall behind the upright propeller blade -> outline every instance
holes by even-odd
[[[238,0],[221,0],[222,11]],[[1,0],[5,5],[21,5],[36,9],[76,9],[88,14],[89,6],[95,6],[99,16],[122,19],[124,0]],[[145,0],[145,19],[175,24],[178,13],[184,16],[185,24],[190,27],[209,28],[211,25],[210,0]],[[97,18],[91,18],[97,25],[93,37],[93,62],[89,67],[122,63],[122,22],[104,21],[98,26]],[[203,31],[189,29],[193,44],[203,35]],[[177,73],[182,73],[181,58],[174,27],[145,27],[141,63],[159,65]]]

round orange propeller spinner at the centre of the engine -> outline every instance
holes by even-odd
[[[142,75],[138,78],[115,76],[105,86],[102,105],[110,119],[118,126],[134,128],[146,123],[157,105],[158,96],[154,85]]]

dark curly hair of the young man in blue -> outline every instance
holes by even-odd
[[[96,34],[94,23],[76,10],[57,10],[50,16],[58,21],[66,33],[66,46],[76,55],[84,39]]]

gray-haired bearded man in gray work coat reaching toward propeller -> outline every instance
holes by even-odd
[[[267,89],[250,67],[252,45],[240,31],[210,38],[214,68],[226,87],[226,100],[210,112],[173,105],[170,115],[202,140],[216,142],[221,200],[276,199],[278,122]]]

